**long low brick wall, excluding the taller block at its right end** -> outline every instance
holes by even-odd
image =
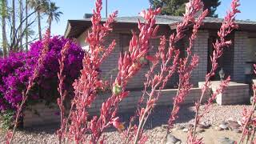
[[[161,98],[158,101],[157,106],[170,106],[173,104],[173,98],[177,93],[177,89],[168,89],[162,90]],[[125,98],[119,104],[119,112],[127,112],[136,109],[138,98],[142,95],[142,91],[131,91],[130,95]],[[192,88],[190,90],[190,94],[186,97],[184,104],[193,104],[198,100],[201,95],[200,88]],[[210,90],[206,93],[206,97],[209,97]],[[98,114],[102,102],[105,102],[106,99],[110,96],[110,93],[99,94],[98,98],[92,104],[89,112],[90,114]],[[44,105],[44,103],[38,103],[35,106],[31,106],[29,110],[25,111],[23,126],[38,126],[38,125],[46,125],[54,122],[59,122],[58,114],[58,106],[52,106],[51,108]]]

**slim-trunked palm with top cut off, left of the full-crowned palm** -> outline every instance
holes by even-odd
[[[28,0],[30,8],[37,10],[39,40],[42,40],[41,13],[46,12],[47,0]]]

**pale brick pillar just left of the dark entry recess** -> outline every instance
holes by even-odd
[[[198,67],[193,71],[191,78],[191,82],[194,86],[197,86],[200,81],[205,81],[207,73],[208,38],[208,30],[199,30],[198,38],[194,41],[192,51],[194,54],[198,54],[199,56]]]

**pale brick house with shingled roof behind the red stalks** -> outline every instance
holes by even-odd
[[[113,51],[113,54],[102,64],[103,77],[117,74],[118,57],[119,53],[127,50],[131,38],[130,30],[138,30],[138,19],[143,22],[141,17],[119,17],[116,18],[114,23],[114,31],[106,39],[106,44],[115,39],[117,45]],[[102,22],[106,21],[106,18],[102,18]],[[165,34],[166,37],[172,34],[177,26],[178,22],[182,21],[182,17],[178,16],[157,16],[157,24],[160,26],[159,35]],[[239,29],[230,34],[229,39],[234,43],[230,49],[226,49],[222,58],[219,59],[219,70],[223,68],[226,75],[230,75],[234,82],[245,82],[246,74],[252,74],[251,64],[256,62],[256,22],[253,21],[237,21]],[[194,70],[191,81],[194,86],[198,86],[198,82],[204,81],[205,75],[210,70],[210,54],[213,47],[212,42],[217,38],[217,32],[222,24],[221,18],[206,18],[204,25],[198,31],[198,38],[194,42],[193,51],[199,55],[199,65]],[[88,44],[84,41],[87,31],[90,30],[91,22],[90,18],[84,18],[80,20],[68,20],[65,37],[75,38],[77,42],[84,48],[88,47]],[[186,34],[189,35],[191,28],[186,30]],[[154,46],[157,49],[159,39],[152,39],[150,46]],[[188,44],[188,37],[182,38],[177,43],[177,47],[185,54],[185,48]],[[153,49],[154,50],[154,49]],[[151,51],[151,53],[154,51]],[[128,88],[137,89],[142,88],[144,82],[144,74],[149,70],[149,65],[144,66],[142,70],[131,80]],[[113,77],[114,79],[114,77]],[[218,80],[218,74],[216,74],[213,80]],[[166,88],[173,88],[177,85],[178,76],[174,75],[174,78],[170,80],[170,83]]]

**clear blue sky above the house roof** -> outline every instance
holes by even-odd
[[[94,8],[94,0],[53,0],[57,6],[63,12],[60,22],[53,23],[52,33],[63,34],[66,29],[66,22],[68,19],[81,19],[83,14],[91,13]],[[217,14],[219,18],[223,18],[226,14],[226,10],[230,7],[231,0],[222,0],[221,6],[218,6]],[[238,14],[237,19],[250,19],[256,20],[256,0],[241,0],[240,10],[241,14]],[[134,16],[138,15],[141,10],[145,10],[149,7],[148,0],[108,0],[109,13],[118,10],[118,16]],[[105,0],[103,0],[102,15],[105,16]]]

